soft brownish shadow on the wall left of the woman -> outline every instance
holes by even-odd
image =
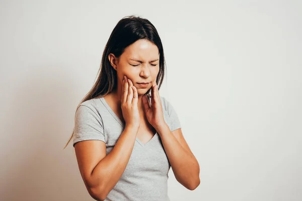
[[[1,200],[90,200],[71,143],[63,150],[80,102],[74,98],[79,82],[63,72],[67,68],[39,69],[12,89],[4,122],[9,135],[2,148]]]

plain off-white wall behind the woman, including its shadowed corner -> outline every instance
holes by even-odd
[[[170,170],[170,199],[302,200],[301,12],[301,1],[1,1],[0,200],[94,200],[63,147],[129,15],[160,34],[160,94],[200,165],[194,191]]]

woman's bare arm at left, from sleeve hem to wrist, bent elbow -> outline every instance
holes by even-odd
[[[74,145],[80,172],[89,194],[104,200],[120,179],[129,161],[138,128],[126,126],[112,151],[100,140],[86,140]]]

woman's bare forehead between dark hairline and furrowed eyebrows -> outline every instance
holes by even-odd
[[[128,59],[154,60],[159,59],[158,47],[145,39],[140,39],[129,45],[124,50],[124,56]]]

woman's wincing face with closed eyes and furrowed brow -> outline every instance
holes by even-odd
[[[113,56],[109,55],[109,60],[112,61],[110,58],[113,59]],[[121,54],[119,61],[112,65],[117,68],[118,88],[122,88],[123,77],[126,75],[137,88],[138,95],[146,93],[159,73],[159,59],[158,47],[148,40],[140,39],[129,45]],[[147,84],[140,85],[141,82]]]

